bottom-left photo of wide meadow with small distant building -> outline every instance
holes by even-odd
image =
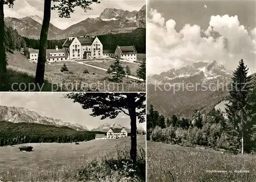
[[[145,93],[0,96],[0,181],[145,181]]]

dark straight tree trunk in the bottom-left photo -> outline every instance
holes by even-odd
[[[127,101],[129,103],[129,114],[131,119],[131,159],[133,164],[137,162],[137,124],[136,124],[136,106],[135,106],[135,95],[129,93],[127,95]]]

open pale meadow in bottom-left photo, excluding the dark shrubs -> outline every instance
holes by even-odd
[[[130,149],[130,137],[75,143],[31,143],[31,152],[0,147],[0,181],[75,181],[77,171],[102,157]],[[145,135],[138,135],[138,148],[145,148]],[[102,171],[103,173],[103,171]],[[100,174],[99,174],[100,175]]]

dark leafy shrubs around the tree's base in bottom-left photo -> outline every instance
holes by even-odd
[[[133,164],[128,151],[118,150],[117,157],[106,155],[100,162],[92,161],[75,175],[79,181],[145,181],[145,150],[140,149],[136,165]]]

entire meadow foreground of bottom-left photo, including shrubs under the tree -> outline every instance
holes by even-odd
[[[19,151],[20,145],[0,147],[0,181],[144,181],[145,135],[138,135],[136,166],[130,140],[24,144],[31,152]]]

